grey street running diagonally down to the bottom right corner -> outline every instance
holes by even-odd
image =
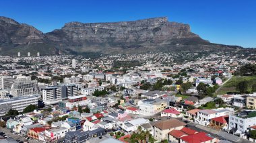
[[[219,138],[222,140],[228,140],[230,142],[236,142],[236,143],[251,143],[251,141],[239,138],[238,136],[234,136],[232,134],[228,134],[227,132],[217,131],[212,128],[208,128],[206,126],[201,126],[199,124],[195,124],[194,122],[190,122],[189,128],[197,131],[203,131],[207,134],[210,134],[211,136],[214,136],[215,138]]]

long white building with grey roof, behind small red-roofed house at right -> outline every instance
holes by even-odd
[[[220,117],[223,115],[231,115],[234,113],[232,108],[218,108],[218,109],[202,109],[197,112],[195,117],[195,123],[207,126],[214,117]]]

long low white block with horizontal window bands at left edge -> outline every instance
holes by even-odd
[[[40,95],[28,95],[23,97],[13,97],[11,99],[0,100],[0,116],[5,115],[9,109],[22,112],[28,105],[38,105]]]

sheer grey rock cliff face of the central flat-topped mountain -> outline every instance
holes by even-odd
[[[207,43],[191,33],[189,25],[168,22],[166,17],[113,23],[71,22],[46,36],[53,42],[64,42],[67,46],[85,47],[136,48],[181,38],[195,38],[199,42]]]

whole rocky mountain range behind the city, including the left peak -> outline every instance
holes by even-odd
[[[31,50],[41,54],[123,54],[223,47],[193,34],[187,24],[169,22],[167,17],[110,23],[70,22],[46,34],[27,24],[0,17],[0,33],[0,54]]]

